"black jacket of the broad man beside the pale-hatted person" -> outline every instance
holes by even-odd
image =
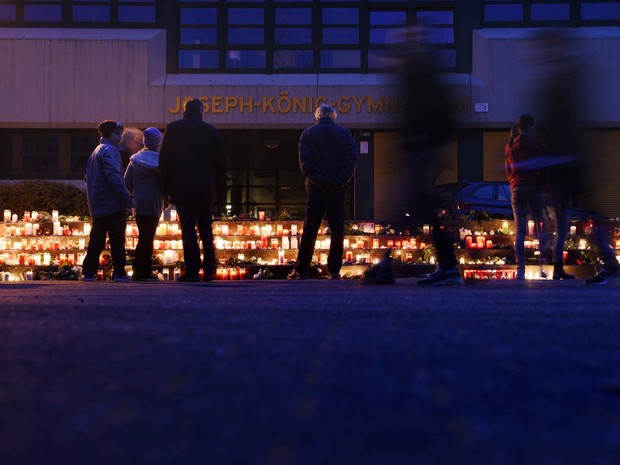
[[[217,128],[205,123],[199,110],[188,110],[164,133],[159,169],[164,192],[173,204],[213,202],[224,182],[228,155]]]

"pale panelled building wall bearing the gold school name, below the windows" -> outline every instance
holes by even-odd
[[[444,76],[461,130],[502,132],[485,132],[479,169],[484,179],[503,179],[498,166],[507,129],[518,114],[537,109],[531,92],[537,76],[525,59],[533,47],[531,34],[529,29],[475,30],[472,73]],[[620,28],[580,28],[571,34],[571,50],[587,70],[585,123],[620,127],[615,84]],[[393,129],[398,117],[399,87],[392,75],[172,75],[166,74],[166,54],[166,32],[159,29],[0,29],[0,62],[8,70],[0,74],[0,127],[94,129],[113,118],[127,126],[164,128],[181,116],[184,100],[196,97],[207,104],[209,122],[231,129],[301,129],[312,123],[322,102],[336,106],[339,123],[362,131]],[[390,195],[402,195],[393,186],[404,185],[403,173],[385,150],[388,136],[373,134],[374,212],[387,218],[396,208]],[[615,136],[601,140],[607,137]],[[615,145],[595,145],[592,159],[607,163],[605,157],[615,156],[609,147]],[[449,151],[454,168],[442,181],[460,179],[456,166],[467,163],[458,147]],[[612,180],[620,173],[610,166],[604,173],[609,182],[598,185],[607,186],[605,201],[592,195],[591,205],[618,216],[620,194]]]

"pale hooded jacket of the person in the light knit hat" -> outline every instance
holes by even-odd
[[[133,195],[136,215],[160,217],[164,196],[159,175],[159,154],[143,149],[129,159],[125,187]]]

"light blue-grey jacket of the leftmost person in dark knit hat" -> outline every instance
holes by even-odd
[[[88,158],[84,180],[92,218],[133,208],[133,200],[123,180],[121,155],[116,145],[105,137]]]

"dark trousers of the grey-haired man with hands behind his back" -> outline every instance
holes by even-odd
[[[340,190],[336,195],[330,196],[322,193],[312,184],[308,186],[306,218],[297,253],[297,265],[295,266],[299,274],[308,274],[314,253],[314,244],[324,215],[327,216],[327,223],[331,231],[327,270],[331,274],[340,273],[344,249],[345,198],[345,190]]]

